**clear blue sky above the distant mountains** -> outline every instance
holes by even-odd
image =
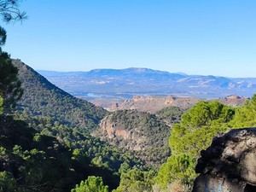
[[[256,77],[255,0],[23,0],[5,50],[35,69]]]

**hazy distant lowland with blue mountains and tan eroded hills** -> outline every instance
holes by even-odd
[[[38,72],[71,95],[108,111],[157,113],[167,107],[188,109],[199,101],[210,100],[239,106],[256,92],[256,79],[189,76],[146,68]]]

